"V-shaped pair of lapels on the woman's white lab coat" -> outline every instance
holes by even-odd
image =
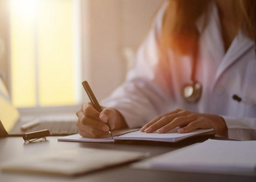
[[[203,20],[202,15],[196,22],[197,29],[201,33],[201,39],[203,44],[203,50],[208,51],[208,54],[217,66],[217,71],[212,83],[214,88],[219,77],[234,64],[246,51],[253,47],[253,41],[248,39],[242,31],[232,41],[229,49],[225,54],[224,42],[222,39],[221,22],[218,16],[217,5],[212,2],[210,16],[208,17],[208,23],[203,31]],[[210,60],[207,60],[210,61]]]

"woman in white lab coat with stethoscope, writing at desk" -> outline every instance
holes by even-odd
[[[76,112],[79,134],[101,137],[108,121],[112,130],[214,128],[220,137],[256,139],[255,18],[254,0],[166,1],[103,111],[84,103]]]

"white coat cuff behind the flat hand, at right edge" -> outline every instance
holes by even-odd
[[[256,118],[234,118],[222,116],[225,120],[228,137],[237,140],[256,140]]]

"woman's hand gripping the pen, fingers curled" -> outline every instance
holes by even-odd
[[[98,112],[91,103],[84,103],[76,112],[78,116],[76,126],[82,137],[100,138],[108,134],[109,127],[106,125],[106,122],[109,123],[111,130],[127,127],[123,116],[116,109],[102,106],[101,108],[103,110]]]

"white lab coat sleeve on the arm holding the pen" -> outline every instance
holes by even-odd
[[[163,6],[140,46],[126,81],[101,104],[117,109],[130,128],[141,127],[172,102],[169,62],[159,51]],[[169,110],[169,109],[167,109]]]

